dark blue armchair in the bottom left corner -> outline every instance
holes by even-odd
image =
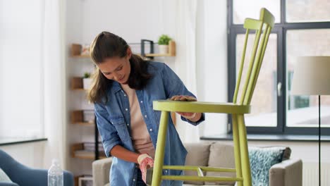
[[[0,168],[13,182],[1,182],[0,186],[47,186],[47,169],[29,168],[0,149]],[[64,186],[73,186],[73,174],[64,171]]]

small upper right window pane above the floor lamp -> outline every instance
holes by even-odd
[[[286,22],[290,23],[329,21],[329,10],[329,0],[287,0]]]

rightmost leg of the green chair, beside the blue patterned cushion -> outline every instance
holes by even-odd
[[[240,157],[242,159],[243,185],[252,186],[249,151],[247,149],[246,127],[244,115],[238,115],[238,134],[240,140]]]

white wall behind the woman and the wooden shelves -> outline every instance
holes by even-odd
[[[66,1],[66,51],[69,54],[72,43],[90,44],[92,39],[102,31],[113,32],[130,43],[140,43],[140,39],[152,39],[157,42],[161,34],[173,37],[175,31],[171,16],[171,4],[175,1],[142,0],[142,1]],[[163,13],[169,15],[164,17]],[[159,58],[173,68],[173,59]],[[67,57],[67,80],[81,76],[84,71],[92,69],[90,59],[73,59]],[[68,85],[70,83],[68,82]],[[87,109],[90,106],[85,100],[84,92],[67,91],[68,112],[74,109]],[[77,142],[94,141],[94,128],[73,125],[68,121],[68,145]],[[68,155],[68,168],[75,173],[91,174],[92,160],[73,159]]]

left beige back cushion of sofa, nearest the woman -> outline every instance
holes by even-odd
[[[187,143],[185,149],[188,154],[185,159],[186,166],[207,166],[209,161],[209,143]],[[204,173],[205,174],[205,173]],[[196,171],[185,171],[185,175],[197,175]],[[187,184],[203,185],[202,181],[185,181]]]

